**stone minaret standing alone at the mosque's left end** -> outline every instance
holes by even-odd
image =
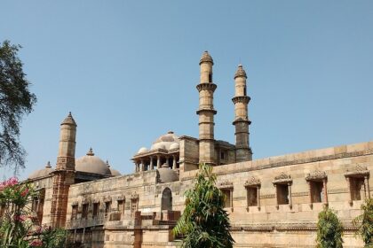
[[[76,123],[68,113],[60,125],[60,145],[56,170],[53,172],[51,226],[65,227],[68,189],[75,179]]]

